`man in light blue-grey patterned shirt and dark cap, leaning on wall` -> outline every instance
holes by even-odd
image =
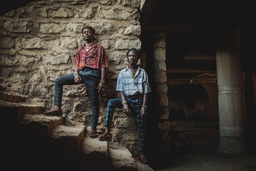
[[[98,137],[101,141],[111,140],[110,133],[111,122],[115,108],[123,108],[123,112],[128,114],[133,112],[135,115],[138,137],[139,137],[139,160],[147,165],[145,152],[145,117],[147,114],[147,93],[151,92],[147,73],[140,68],[137,63],[140,58],[140,52],[136,48],[131,48],[126,53],[129,65],[120,71],[117,77],[116,91],[119,91],[120,97],[110,99],[106,110],[105,132]]]

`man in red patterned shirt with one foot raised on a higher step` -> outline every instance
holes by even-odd
[[[44,112],[45,115],[62,116],[61,100],[63,85],[75,85],[85,83],[91,100],[91,130],[89,137],[96,138],[96,127],[99,117],[99,92],[105,83],[106,68],[108,61],[103,46],[94,42],[95,29],[89,25],[82,28],[82,36],[85,44],[75,54],[74,73],[59,77],[54,81],[54,104],[55,108]]]

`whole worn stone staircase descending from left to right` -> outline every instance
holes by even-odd
[[[43,115],[44,106],[0,91],[0,111],[9,168],[72,170],[153,170],[134,160],[117,142],[89,138],[89,127],[67,125],[65,117]]]

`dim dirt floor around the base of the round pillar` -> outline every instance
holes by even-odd
[[[182,157],[172,157],[166,165],[152,167],[155,171],[252,171],[256,170],[256,155],[218,156],[199,151]]]

